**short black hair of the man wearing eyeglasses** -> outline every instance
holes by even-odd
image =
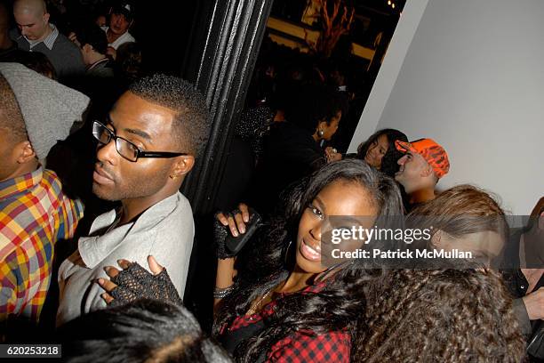
[[[204,96],[195,85],[180,77],[156,74],[140,78],[130,85],[129,91],[175,111],[173,130],[180,151],[195,157],[202,152],[210,133],[210,117]]]

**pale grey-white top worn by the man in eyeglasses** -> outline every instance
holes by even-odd
[[[183,298],[195,236],[187,198],[177,192],[150,206],[136,222],[108,230],[115,220],[115,210],[99,215],[90,237],[79,238],[77,251],[60,265],[57,326],[106,307],[100,297],[104,290],[95,281],[108,278],[104,267],[118,267],[119,259],[138,262],[148,270],[148,255],[153,255]]]

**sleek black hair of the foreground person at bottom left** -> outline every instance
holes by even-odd
[[[183,306],[138,300],[93,311],[59,330],[64,361],[230,362]]]

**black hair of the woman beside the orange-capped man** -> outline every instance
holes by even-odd
[[[388,138],[388,151],[385,153],[383,158],[381,159],[381,173],[386,173],[390,177],[394,177],[395,173],[398,172],[399,165],[396,164],[399,158],[403,157],[404,154],[400,151],[398,151],[395,147],[395,141],[405,141],[408,142],[408,137],[396,129],[383,129],[378,130],[375,133],[372,133],[371,137],[368,138],[367,141],[362,142],[357,147],[357,158],[364,160],[364,157],[366,156],[366,152],[371,147],[372,142],[377,141],[378,138],[381,135],[386,135]]]

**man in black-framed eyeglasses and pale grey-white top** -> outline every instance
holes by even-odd
[[[98,141],[92,191],[121,206],[97,217],[60,265],[58,325],[106,306],[96,281],[122,258],[142,266],[149,255],[160,258],[183,296],[194,224],[179,190],[208,133],[204,97],[164,75],[136,81],[107,119],[92,123]]]

